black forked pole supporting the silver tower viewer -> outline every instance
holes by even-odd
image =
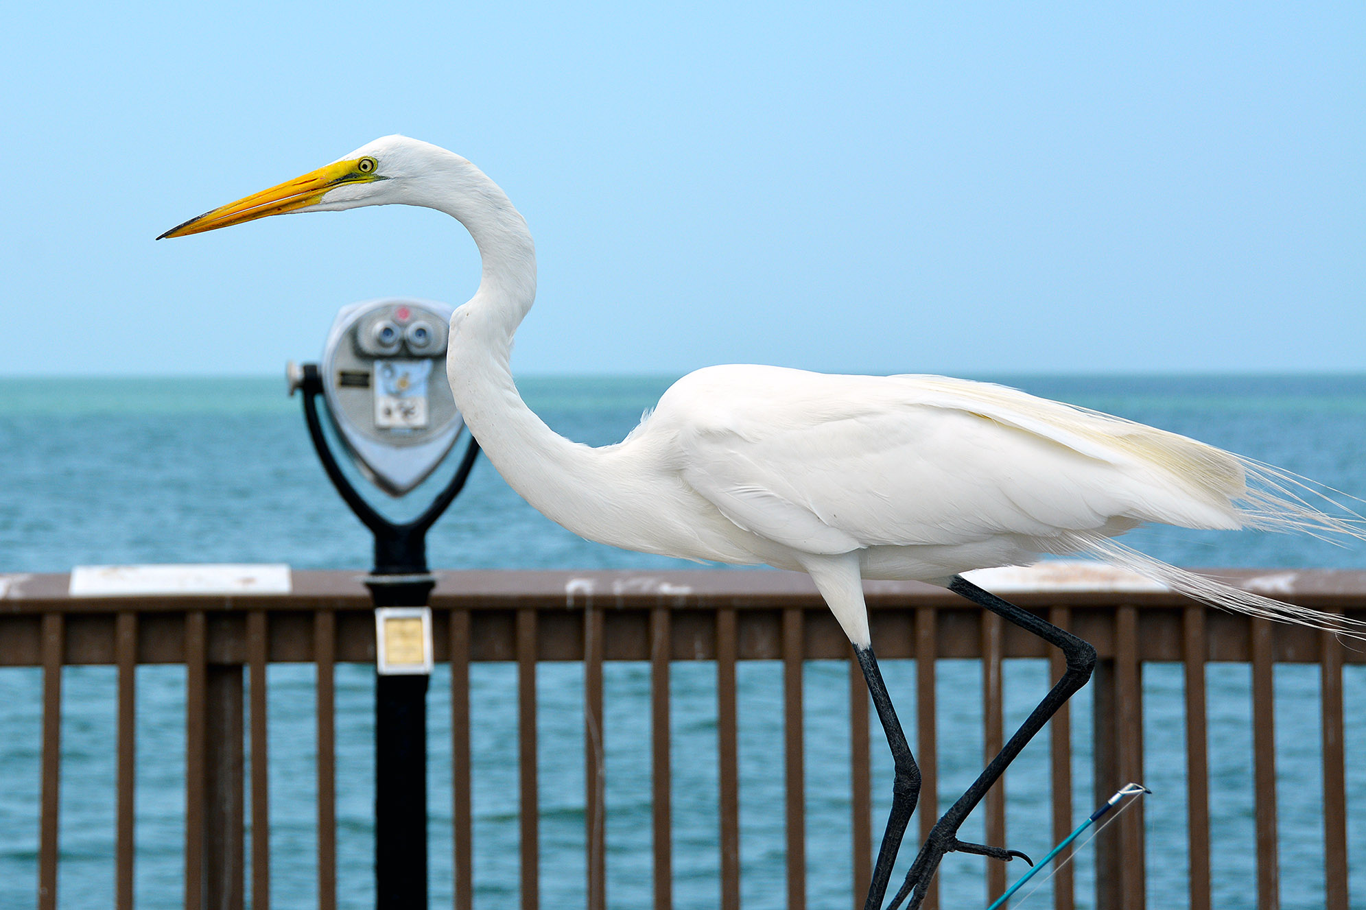
[[[455,477],[426,511],[411,522],[393,523],[361,497],[332,455],[318,419],[317,396],[322,394],[322,378],[316,363],[303,365],[301,388],[309,436],[328,478],[374,534],[374,568],[365,583],[376,608],[426,607],[436,586],[426,564],[426,533],[464,486],[479,444],[470,440]],[[423,910],[428,906],[426,690],[426,674],[380,674],[374,682],[377,910]]]

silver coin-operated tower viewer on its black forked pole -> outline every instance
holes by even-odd
[[[478,456],[473,439],[455,474],[421,515],[393,522],[342,470],[318,417],[322,396],[336,437],[361,474],[391,497],[426,480],[464,422],[445,380],[451,307],[381,299],[337,313],[322,362],[290,363],[290,394],[303,392],[303,415],[332,485],[374,534],[374,874],[380,910],[428,906],[426,690],[432,674],[436,578],[426,533],[464,486]]]

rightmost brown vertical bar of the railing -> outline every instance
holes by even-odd
[[[1347,760],[1343,747],[1343,642],[1320,633],[1324,724],[1324,906],[1347,910]]]

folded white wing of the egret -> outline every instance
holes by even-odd
[[[710,368],[654,418],[693,489],[802,552],[1244,525],[1235,456],[984,383]]]

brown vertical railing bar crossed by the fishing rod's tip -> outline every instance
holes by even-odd
[[[1143,780],[1143,682],[1138,654],[1138,609],[1124,604],[1115,620],[1115,713],[1119,720],[1116,752],[1120,782]],[[1143,910],[1147,883],[1143,864],[1143,805],[1124,813],[1119,821],[1120,907]],[[1105,874],[1098,870],[1097,876]]]

